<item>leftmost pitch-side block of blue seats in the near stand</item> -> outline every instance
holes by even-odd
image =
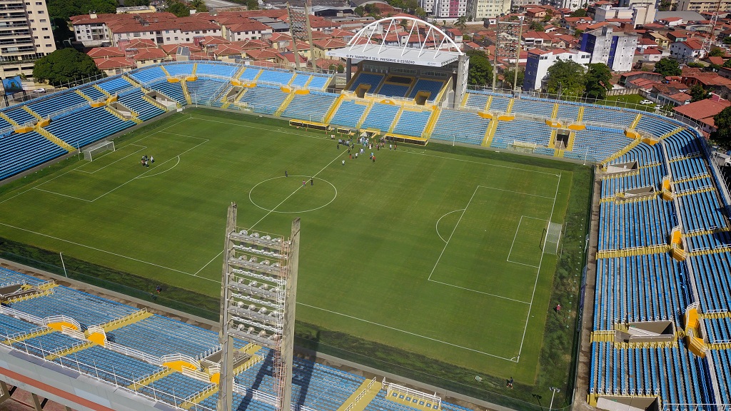
[[[87,327],[135,312],[130,306],[66,287],[55,287],[53,294],[12,303],[11,308],[41,318],[66,314]]]

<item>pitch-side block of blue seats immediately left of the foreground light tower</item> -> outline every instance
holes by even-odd
[[[180,338],[181,335],[185,338]],[[111,331],[107,333],[107,338],[156,357],[178,352],[195,357],[216,346],[215,333],[160,315]]]

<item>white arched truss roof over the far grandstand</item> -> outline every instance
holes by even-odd
[[[406,29],[401,22],[406,21]],[[348,46],[328,56],[443,67],[456,61],[462,50],[439,27],[412,17],[376,20],[360,29]]]

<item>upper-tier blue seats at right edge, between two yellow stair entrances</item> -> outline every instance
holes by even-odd
[[[731,266],[728,254],[704,254],[690,257],[690,263],[697,276],[698,293],[703,310],[730,309]]]

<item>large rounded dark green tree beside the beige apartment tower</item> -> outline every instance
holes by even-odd
[[[100,75],[94,59],[74,48],[62,48],[38,59],[33,67],[37,81],[48,81],[53,86]]]

